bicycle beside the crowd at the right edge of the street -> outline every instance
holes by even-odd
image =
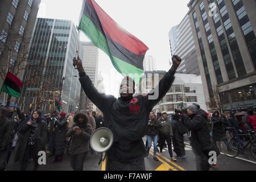
[[[250,144],[250,153],[256,160],[255,131],[247,130],[247,134],[236,134],[234,131],[236,131],[237,129],[233,127],[227,127],[226,130],[229,131],[229,135],[222,138],[222,140],[219,142],[220,150],[230,158],[236,158],[236,156],[242,154],[246,157],[246,159],[248,159],[248,155],[245,154],[245,149]],[[233,130],[233,132],[230,130]],[[243,145],[241,143],[240,137],[250,137],[250,140],[245,145]]]

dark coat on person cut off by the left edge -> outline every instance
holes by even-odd
[[[6,150],[11,143],[10,124],[6,118],[0,119],[0,150]]]

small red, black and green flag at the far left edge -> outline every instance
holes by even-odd
[[[13,75],[13,73],[8,72],[3,82],[1,92],[5,92],[13,97],[20,97],[21,89],[24,83],[19,80],[18,77]]]

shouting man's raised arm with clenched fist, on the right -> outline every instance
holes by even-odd
[[[164,75],[162,80],[160,80],[158,86],[156,86],[154,90],[151,90],[152,94],[150,92],[150,94],[146,96],[146,105],[148,109],[150,110],[153,109],[153,107],[156,104],[158,104],[158,102],[162,100],[164,96],[166,96],[166,93],[168,92],[168,90],[170,90],[172,83],[175,80],[174,75],[180,63],[181,63],[181,58],[179,56],[176,56],[176,55],[172,56],[171,69],[166,73],[166,75]],[[153,95],[158,97],[154,99]]]

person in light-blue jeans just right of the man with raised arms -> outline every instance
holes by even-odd
[[[154,112],[150,112],[150,118],[148,120],[148,130],[147,130],[147,155],[150,152],[151,143],[154,143],[154,160],[159,161],[156,158],[156,152],[158,151],[158,121],[154,118]]]

